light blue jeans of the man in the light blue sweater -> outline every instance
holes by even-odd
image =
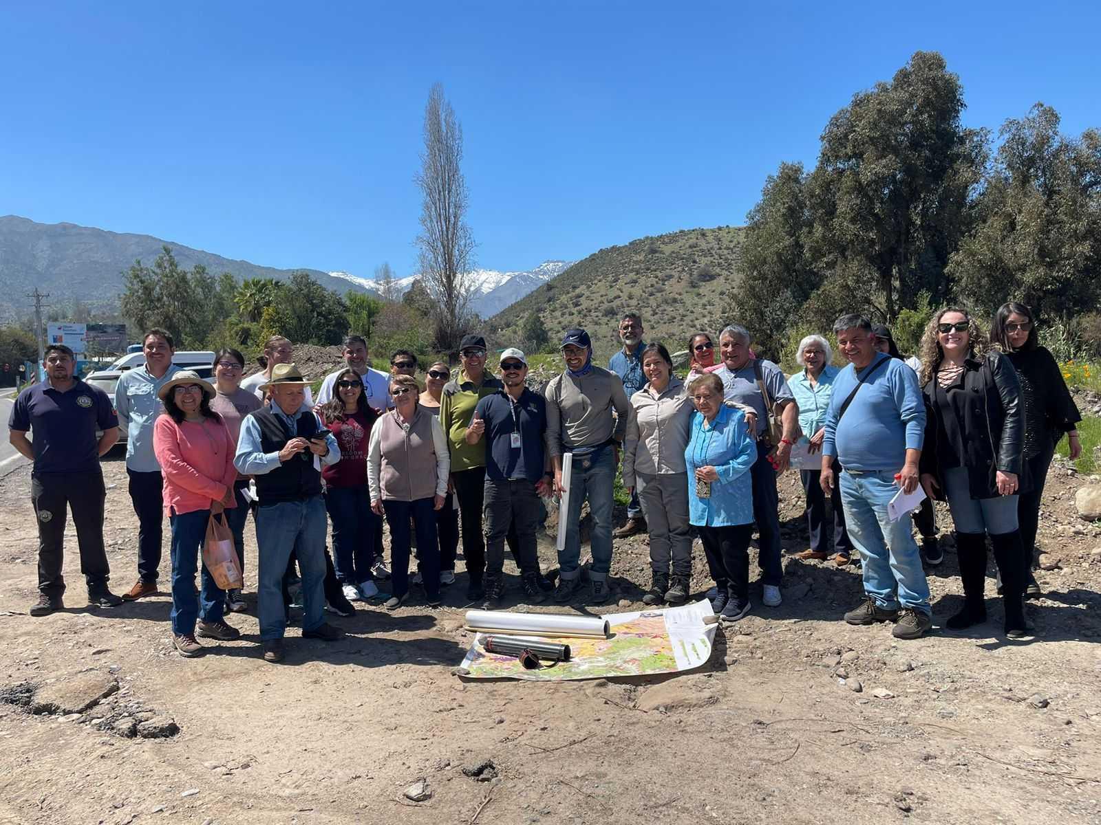
[[[901,604],[931,615],[929,583],[922,570],[911,520],[892,521],[887,515],[887,503],[898,492],[894,471],[844,470],[838,485],[849,539],[863,564],[864,593],[884,609],[897,609]]]

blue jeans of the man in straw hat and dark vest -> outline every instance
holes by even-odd
[[[260,544],[260,586],[257,603],[260,639],[282,639],[286,630],[283,609],[283,574],[294,551],[302,571],[303,630],[325,624],[325,504],[310,496],[299,502],[280,502],[257,508],[257,542]]]

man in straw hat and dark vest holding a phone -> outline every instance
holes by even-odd
[[[233,463],[257,479],[257,543],[260,546],[258,602],[264,659],[283,661],[283,573],[294,550],[302,568],[306,615],[302,636],[333,641],[344,634],[325,623],[325,536],[328,521],[321,498],[321,464],[340,460],[336,439],[317,414],[303,408],[308,382],[294,364],[276,364],[271,406],[250,413],[241,424]]]

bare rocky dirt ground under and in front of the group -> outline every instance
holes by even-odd
[[[135,518],[120,457],[103,466],[121,592],[134,579]],[[29,472],[0,480],[3,825],[1101,822],[1101,529],[1078,519],[1082,480],[1065,465],[1045,502],[1043,544],[1058,566],[1037,571],[1047,595],[1027,608],[1034,640],[1001,634],[992,578],[990,622],[973,632],[896,642],[890,626],[850,627],[840,616],[860,598],[859,572],[788,556],[784,604],[761,606],[754,587],[752,614],[718,631],[705,668],[573,683],[453,675],[469,644],[462,575],[442,609],[360,603],[353,618],[329,617],[345,640],[306,642],[292,628],[286,662],[265,664],[251,526],[250,613],[230,618],[242,639],[203,658],[173,652],[167,596],[85,606],[72,525],[68,609],[31,618]],[[793,474],[782,486],[785,547],[797,551],[800,492]],[[930,571],[938,626],[960,604],[948,543]],[[167,536],[165,548],[164,586]],[[549,541],[541,554],[549,566]],[[646,559],[645,539],[617,541],[620,606],[609,612],[639,608]],[[693,584],[710,584],[698,546]],[[120,690],[84,713],[19,704],[33,688],[34,701],[65,698],[112,680]],[[131,736],[172,723],[175,736]],[[464,774],[484,760],[498,781]],[[417,804],[403,793],[419,779],[432,796]]]

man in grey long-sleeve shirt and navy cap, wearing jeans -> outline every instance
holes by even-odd
[[[567,494],[565,547],[558,550],[562,571],[554,597],[559,604],[574,598],[580,584],[581,504],[589,501],[592,515],[592,582],[590,604],[608,602],[608,572],[612,564],[612,485],[620,446],[626,432],[628,400],[614,373],[592,363],[592,343],[584,329],[571,329],[562,341],[566,371],[546,386],[547,451],[554,462],[555,491],[566,493],[562,480],[563,453],[573,454]],[[614,415],[613,415],[614,414]]]

